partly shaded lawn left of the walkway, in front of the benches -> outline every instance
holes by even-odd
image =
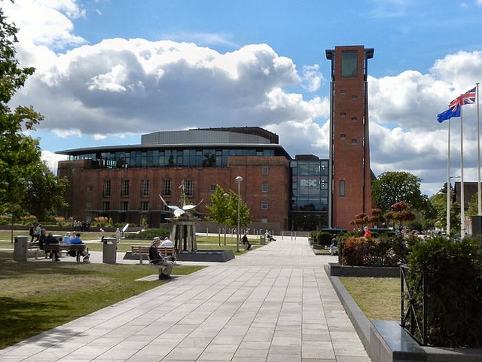
[[[136,281],[151,274],[147,265],[16,263],[0,252],[0,349],[165,283]]]

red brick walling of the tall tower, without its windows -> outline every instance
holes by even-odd
[[[341,77],[342,50],[358,51],[357,77]],[[368,214],[371,208],[368,100],[363,70],[364,47],[335,48],[335,78],[332,90],[333,227],[347,230],[353,228],[350,221],[355,214]],[[346,91],[346,94],[342,94],[342,90]],[[344,117],[342,113],[345,114]],[[365,114],[367,117],[364,124]],[[357,120],[353,121],[353,117]],[[341,134],[346,134],[346,139],[342,139]],[[356,144],[352,144],[353,139],[357,140]],[[345,181],[345,197],[339,196],[340,180]]]

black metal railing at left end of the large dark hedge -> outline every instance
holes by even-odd
[[[415,285],[408,283],[409,272],[419,274]],[[426,278],[426,272],[400,265],[400,325],[421,345],[427,345]]]

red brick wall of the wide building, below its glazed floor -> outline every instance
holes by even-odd
[[[269,175],[262,174],[262,165],[269,165]],[[228,168],[129,168],[129,169],[91,169],[90,161],[61,161],[59,176],[67,176],[70,186],[66,200],[70,203],[68,217],[86,220],[97,216],[86,212],[87,202],[92,203],[91,210],[103,210],[103,201],[110,202],[110,210],[121,210],[121,201],[129,201],[129,210],[139,210],[141,201],[149,201],[149,210],[162,210],[158,197],[162,192],[163,179],[171,179],[171,197],[165,197],[173,205],[178,205],[180,189],[184,179],[194,181],[194,196],[191,201],[204,200],[198,211],[207,214],[205,208],[210,203],[211,185],[220,185],[224,190],[238,192],[235,177],[241,176],[241,198],[247,202],[253,222],[267,219],[269,223],[278,223],[280,228],[288,225],[289,208],[289,161],[284,157],[230,157]],[[111,180],[111,196],[103,197],[103,183]],[[129,180],[129,197],[121,197],[121,181]],[[149,197],[140,197],[140,182],[149,180]],[[268,192],[262,192],[262,181],[268,181]],[[89,190],[92,191],[89,191]],[[269,202],[268,210],[261,210],[261,201]],[[113,213],[114,214],[114,213]],[[144,216],[146,217],[146,216]],[[140,213],[132,212],[128,220],[140,223]],[[149,214],[146,219],[151,225],[160,222],[160,212]],[[121,222],[119,220],[115,220]]]

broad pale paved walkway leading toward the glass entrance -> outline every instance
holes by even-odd
[[[0,350],[0,361],[370,361],[328,261],[306,238],[279,238]]]

